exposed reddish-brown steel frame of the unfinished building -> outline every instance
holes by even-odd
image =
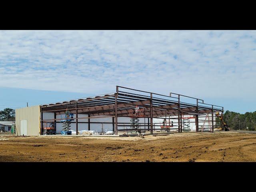
[[[130,92],[124,90],[129,90]],[[182,102],[181,98],[190,98],[194,100],[196,104]],[[148,118],[148,123],[145,122],[144,124],[140,124],[140,129],[118,129],[118,127],[123,127],[124,124],[128,124],[118,122],[118,117],[130,117],[129,111],[134,109],[135,106],[144,108],[144,118]],[[90,122],[91,118],[106,117],[112,117],[113,131],[116,135],[118,134],[118,131],[130,130],[150,131],[150,134],[153,134],[154,130],[160,130],[160,125],[153,125],[153,118],[166,118],[166,116],[168,116],[169,119],[178,119],[178,122],[174,123],[175,125],[173,125],[172,129],[177,129],[178,127],[178,132],[182,132],[182,115],[194,116],[196,131],[199,131],[198,124],[200,120],[198,120],[198,116],[205,114],[211,114],[211,128],[213,132],[215,112],[222,112],[222,115],[224,112],[222,106],[206,104],[204,103],[204,100],[198,98],[174,93],[170,93],[170,96],[165,96],[152,92],[116,86],[116,92],[113,93],[41,105],[41,134],[43,132],[43,122],[60,122],[58,120],[61,119],[56,119],[56,115],[64,114],[67,108],[70,112],[75,114],[88,114],[88,117],[78,118],[78,116],[76,116],[76,118],[73,118],[76,120],[76,134],[78,134],[78,123],[81,123],[78,122],[78,119],[88,119],[88,122],[82,123],[88,123],[88,129],[90,130],[90,124],[93,123]],[[44,112],[54,112],[54,119],[42,120]],[[177,116],[177,118],[171,118],[171,116]]]

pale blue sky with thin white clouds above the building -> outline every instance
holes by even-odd
[[[256,111],[256,31],[2,30],[0,110],[116,85]]]

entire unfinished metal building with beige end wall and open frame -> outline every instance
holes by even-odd
[[[22,136],[227,131],[223,111],[199,98],[116,86],[109,94],[16,109],[16,129]]]

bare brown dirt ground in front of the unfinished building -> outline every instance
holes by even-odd
[[[0,135],[0,162],[256,162],[256,134],[142,137]]]

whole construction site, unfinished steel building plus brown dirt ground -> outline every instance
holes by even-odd
[[[256,135],[230,131],[224,107],[181,94],[116,92],[16,109],[0,161],[255,161]]]

